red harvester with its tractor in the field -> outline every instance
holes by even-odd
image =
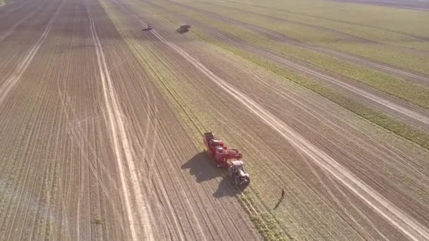
[[[225,168],[229,177],[239,187],[247,186],[250,183],[248,173],[243,169],[243,154],[237,149],[229,149],[222,140],[214,137],[212,132],[204,133],[204,144],[207,147],[207,155],[214,160],[218,168]]]

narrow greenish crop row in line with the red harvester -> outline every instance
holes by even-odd
[[[126,39],[126,43],[128,47],[133,51],[134,56],[136,56],[141,62],[142,66],[147,68],[147,72],[152,74],[152,78],[157,80],[154,81],[155,85],[158,87],[159,91],[164,94],[165,97],[169,99],[169,104],[172,108],[176,110],[178,114],[179,120],[183,123],[183,128],[187,130],[189,135],[193,137],[193,143],[195,147],[199,147],[203,149],[203,144],[200,142],[201,136],[203,132],[205,132],[205,128],[203,124],[201,124],[201,116],[202,113],[195,113],[195,109],[189,107],[189,104],[186,103],[181,98],[181,95],[176,92],[176,89],[171,84],[171,80],[174,79],[174,76],[168,75],[167,72],[160,73],[159,70],[152,68],[151,66],[157,66],[157,63],[153,61],[156,58],[150,58],[149,53],[133,40],[133,37],[127,35],[128,31],[124,30],[119,23],[118,18],[114,14],[114,11],[111,10],[109,6],[107,6],[103,1],[100,1],[103,8],[106,10],[107,14],[111,18],[114,23],[116,30]],[[196,117],[198,116],[198,118]],[[258,232],[265,238],[265,240],[272,241],[283,241],[289,240],[282,233],[282,230],[279,228],[279,224],[276,219],[269,212],[260,211],[258,206],[258,202],[260,200],[255,198],[255,194],[253,194],[253,190],[248,190],[238,195],[238,201],[249,215],[250,220],[255,224]],[[258,201],[257,201],[258,200]]]

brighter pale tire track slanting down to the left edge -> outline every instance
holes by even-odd
[[[16,68],[13,75],[4,82],[3,85],[0,86],[0,105],[3,103],[4,98],[6,98],[6,95],[8,92],[11,91],[11,89],[16,85],[16,83],[20,80],[21,76],[27,70],[28,66],[30,66],[30,63],[32,62],[32,59],[37,54],[37,51],[39,51],[40,47],[42,46],[44,40],[47,38],[47,35],[49,34],[52,24],[56,20],[56,17],[58,16],[59,10],[64,5],[66,1],[63,0],[61,2],[61,5],[56,8],[56,12],[52,16],[51,20],[49,20],[49,23],[47,24],[47,27],[44,29],[44,32],[42,33],[42,36],[40,39],[36,42],[36,44],[28,51],[28,54],[25,56],[25,58],[21,61],[21,63],[18,64],[18,68]]]

